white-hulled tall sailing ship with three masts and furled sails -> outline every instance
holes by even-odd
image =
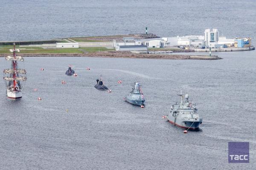
[[[23,57],[16,56],[16,52],[20,52],[20,49],[15,49],[15,43],[13,43],[13,49],[10,49],[10,52],[13,53],[12,56],[7,56],[6,61],[11,61],[11,68],[4,69],[3,73],[7,76],[4,76],[3,79],[6,81],[6,94],[8,98],[16,99],[22,97],[22,85],[21,81],[26,81],[26,70],[18,68],[17,61],[24,61]]]

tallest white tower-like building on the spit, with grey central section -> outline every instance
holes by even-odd
[[[214,47],[215,44],[218,44],[219,32],[218,29],[206,29],[204,31],[204,43],[206,46]]]

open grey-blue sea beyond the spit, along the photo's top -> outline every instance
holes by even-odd
[[[255,0],[0,0],[0,41],[149,33],[256,38]]]

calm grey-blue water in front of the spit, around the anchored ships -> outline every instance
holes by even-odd
[[[0,83],[1,169],[253,170],[256,52],[218,55],[224,59],[25,58],[23,98],[7,99]],[[6,64],[0,58],[1,70]],[[65,75],[69,64],[78,77]],[[94,88],[100,75],[112,93]],[[123,101],[136,80],[144,109]],[[162,119],[180,88],[198,105],[199,132],[183,134]],[[229,141],[250,142],[249,164],[228,164]]]

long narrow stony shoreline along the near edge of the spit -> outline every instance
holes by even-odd
[[[0,54],[0,57],[6,57],[9,54]],[[218,56],[206,55],[166,55],[166,54],[133,54],[122,52],[93,52],[87,54],[78,53],[55,53],[55,54],[33,54],[19,53],[23,57],[100,57],[100,58],[147,58],[147,59],[193,59],[193,60],[218,60]]]

